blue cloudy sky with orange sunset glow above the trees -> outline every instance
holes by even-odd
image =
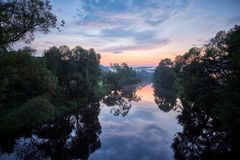
[[[220,30],[240,24],[240,0],[51,0],[61,32],[36,34],[39,53],[51,46],[94,48],[101,64],[156,66]]]

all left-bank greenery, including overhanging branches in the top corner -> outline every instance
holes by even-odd
[[[48,0],[1,1],[0,10],[2,134],[37,126],[104,94],[98,85],[100,55],[93,49],[52,47],[43,57],[33,56],[29,47],[11,49],[14,42],[31,42],[34,33],[57,27]]]

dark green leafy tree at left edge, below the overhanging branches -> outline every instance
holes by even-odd
[[[0,54],[1,105],[43,94],[52,94],[57,79],[47,69],[43,58],[31,56],[28,49]]]

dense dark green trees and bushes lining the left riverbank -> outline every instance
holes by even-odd
[[[97,101],[100,56],[93,49],[25,48],[0,54],[1,127],[35,126]]]

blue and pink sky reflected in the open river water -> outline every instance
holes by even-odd
[[[102,106],[99,116],[102,145],[90,156],[91,160],[173,159],[172,140],[174,134],[181,130],[175,119],[177,113],[163,113],[158,109],[151,86],[137,93],[142,101],[133,102],[125,117],[113,116],[109,107]]]

